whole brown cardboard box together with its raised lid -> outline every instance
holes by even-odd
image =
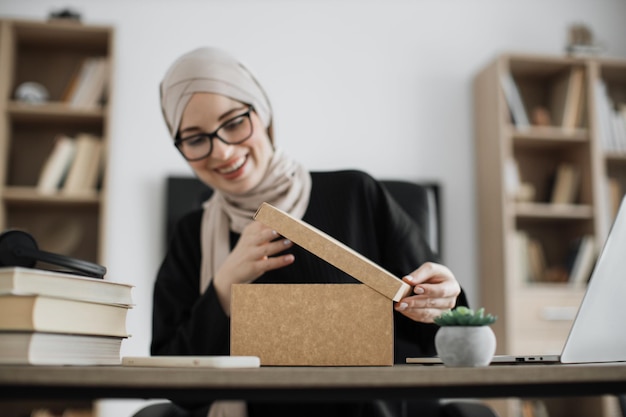
[[[255,219],[362,284],[233,285],[231,355],[258,356],[261,365],[393,365],[391,302],[411,287],[269,204]]]

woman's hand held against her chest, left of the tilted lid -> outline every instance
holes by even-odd
[[[252,222],[244,228],[237,245],[213,277],[213,285],[227,314],[230,313],[231,285],[252,282],[267,271],[293,263],[291,254],[274,256],[291,246],[290,240],[281,238],[260,222]]]

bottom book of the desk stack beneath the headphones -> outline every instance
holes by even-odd
[[[119,365],[123,337],[0,332],[0,364]]]

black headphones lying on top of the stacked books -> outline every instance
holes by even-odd
[[[91,278],[103,278],[107,271],[102,265],[39,250],[35,239],[24,231],[7,230],[0,234],[0,266],[32,268],[37,261],[62,266]]]

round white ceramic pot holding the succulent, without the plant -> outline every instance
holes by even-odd
[[[443,326],[435,348],[446,366],[487,366],[496,353],[496,336],[489,326]]]

